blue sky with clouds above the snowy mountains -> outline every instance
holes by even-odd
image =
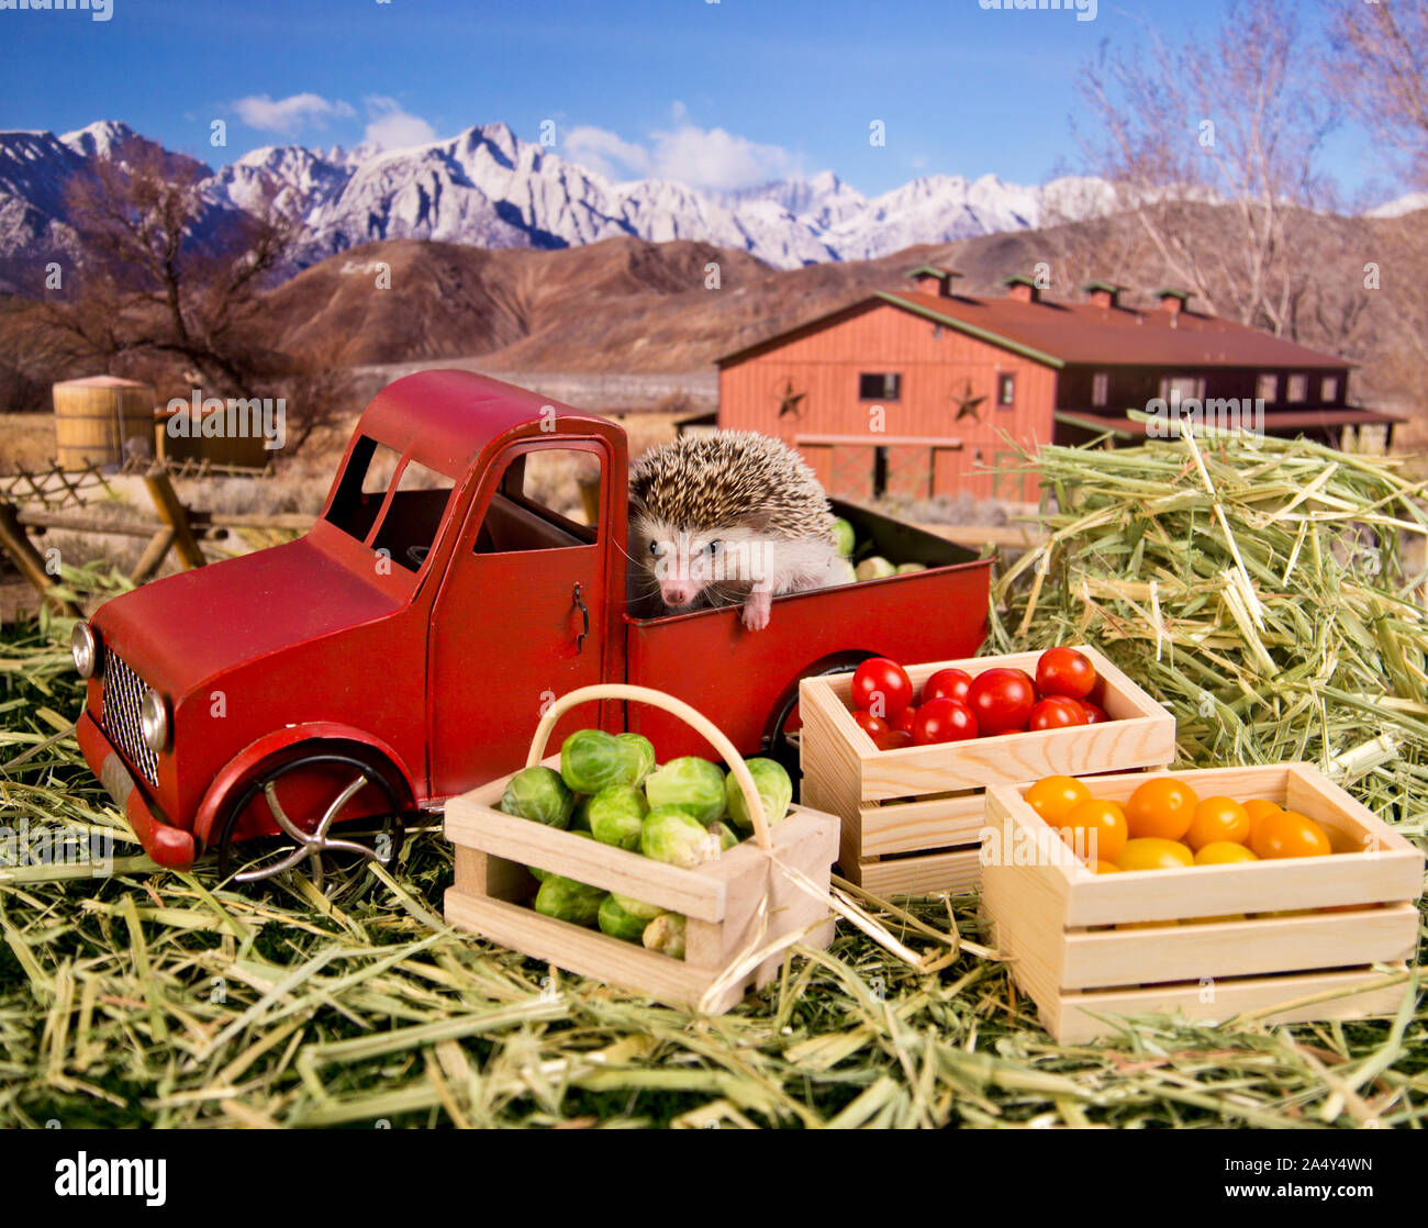
[[[561,153],[618,177],[734,187],[831,168],[868,194],[920,174],[1040,183],[1077,168],[1068,116],[1100,40],[1130,39],[1137,17],[1175,40],[1220,11],[1212,0],[1098,0],[1090,21],[978,0],[107,3],[107,21],[0,11],[0,127],[119,119],[223,164],[266,144],[394,147],[494,120],[538,140],[550,120]],[[216,119],[227,149],[210,146]],[[873,120],[883,147],[868,141]],[[1351,130],[1328,167],[1349,193],[1397,190]]]

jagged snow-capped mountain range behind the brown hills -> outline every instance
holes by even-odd
[[[0,258],[29,263],[71,250],[66,184],[91,160],[124,160],[136,149],[153,146],[110,121],[64,136],[0,133]],[[1067,201],[1082,201],[1077,211],[1085,213],[1111,197],[1100,180],[1025,187],[995,176],[927,176],[871,198],[831,171],[723,193],[670,180],[617,183],[521,141],[501,123],[391,151],[267,147],[218,171],[170,157],[203,176],[214,216],[204,228],[228,210],[258,208],[274,188],[281,201],[300,203],[307,231],[300,264],[378,238],[568,247],[634,236],[701,240],[791,268],[1035,227],[1051,203],[1060,201],[1064,216]]]

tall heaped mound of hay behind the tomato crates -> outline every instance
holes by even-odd
[[[1302,440],[1037,464],[1058,510],[995,587],[990,651],[1091,643],[1175,714],[1185,763],[1309,760],[1422,835],[1424,484]]]

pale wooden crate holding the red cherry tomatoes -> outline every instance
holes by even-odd
[[[980,880],[978,841],[987,785],[1162,767],[1175,758],[1175,718],[1095,648],[1077,645],[1100,681],[1091,698],[1110,721],[1070,730],[1001,734],[965,743],[880,751],[853,720],[853,674],[804,678],[800,761],[803,801],[838,815],[838,867],[884,895],[967,891]],[[938,670],[1035,674],[1040,653],[907,667],[921,688]]]

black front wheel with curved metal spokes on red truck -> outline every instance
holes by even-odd
[[[321,817],[304,827],[288,817],[278,800],[277,784],[293,772],[313,768],[327,771],[336,768],[341,772],[340,778],[347,782],[336,787]],[[388,812],[363,822],[361,831],[344,832],[341,837],[331,835],[341,811],[366,785],[376,787],[386,797]],[[240,817],[260,794],[281,835],[236,841],[233,837]],[[408,804],[404,794],[406,790],[393,782],[388,772],[367,760],[341,751],[313,751],[264,765],[228,807],[218,830],[218,875],[227,880],[233,871],[234,882],[260,882],[296,870],[306,861],[307,874],[318,891],[328,898],[341,894],[363,877],[368,861],[390,865],[396,860],[406,835],[403,814],[408,810]]]

